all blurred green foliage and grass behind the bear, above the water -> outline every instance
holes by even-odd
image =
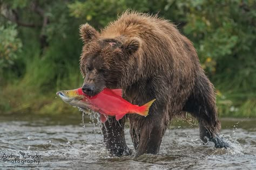
[[[194,43],[219,115],[256,117],[255,0],[0,0],[0,112],[78,112],[55,92],[83,83],[79,25],[99,30],[127,9],[158,13]]]

